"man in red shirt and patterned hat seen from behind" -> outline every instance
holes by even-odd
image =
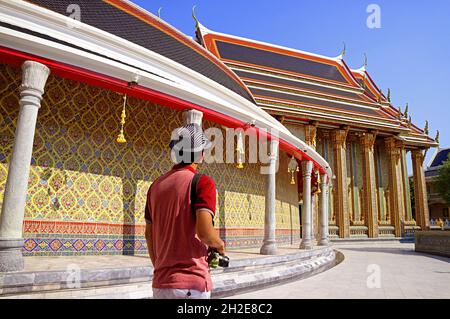
[[[224,253],[224,242],[213,225],[216,211],[213,179],[201,175],[196,196],[191,197],[197,166],[209,147],[211,142],[198,124],[178,128],[170,143],[172,159],[177,164],[148,191],[145,237],[154,267],[153,298],[211,296],[208,247]]]

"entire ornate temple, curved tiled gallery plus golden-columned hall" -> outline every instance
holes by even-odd
[[[146,254],[146,192],[183,123],[246,133],[235,161],[201,167],[227,249],[428,227],[422,162],[437,143],[343,54],[198,22],[195,41],[126,0],[7,0],[0,12],[0,272],[22,256]],[[267,161],[248,161],[251,136]]]

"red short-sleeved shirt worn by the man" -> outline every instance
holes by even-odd
[[[196,235],[196,216],[190,203],[195,174],[190,165],[176,165],[148,191],[145,220],[152,226],[154,288],[212,289],[208,247]],[[201,176],[196,197],[195,209],[207,209],[214,216],[216,187],[211,177]]]

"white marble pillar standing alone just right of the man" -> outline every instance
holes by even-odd
[[[275,174],[276,164],[278,158],[278,141],[270,141],[270,157],[269,157],[269,171],[266,180],[266,211],[264,219],[264,241],[261,247],[261,255],[275,255],[277,253],[277,240],[275,235],[276,217],[275,217],[275,203],[276,203],[276,188],[275,188]]]

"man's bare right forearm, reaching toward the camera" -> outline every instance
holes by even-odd
[[[201,208],[197,210],[196,232],[198,238],[200,238],[205,245],[217,250],[219,254],[225,253],[225,244],[214,229],[212,216],[209,210]]]

